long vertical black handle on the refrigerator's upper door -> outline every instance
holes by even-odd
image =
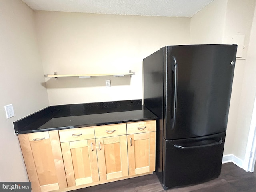
[[[177,61],[175,56],[172,56],[172,71],[174,74],[174,78],[172,81],[173,88],[174,88],[174,98],[173,98],[173,116],[172,116],[172,124],[171,124],[171,129],[174,129],[174,125],[176,122],[176,114],[177,114],[177,82],[178,82],[178,76],[177,76]]]

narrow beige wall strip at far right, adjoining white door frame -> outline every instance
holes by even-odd
[[[254,8],[254,5],[251,5]],[[244,9],[245,10],[245,9]],[[249,128],[252,118],[255,120],[255,116],[252,116],[253,106],[256,96],[256,9],[254,8],[254,19],[253,27],[250,30],[250,41],[246,44],[248,48],[246,54],[246,60],[244,62],[244,76],[243,80],[240,82],[242,84],[240,92],[240,101],[236,103],[238,106],[238,113],[236,117],[236,129],[233,136],[232,152],[238,158],[244,159],[245,149],[248,140]],[[249,12],[250,9],[246,10]]]

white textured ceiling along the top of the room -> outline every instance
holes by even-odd
[[[192,17],[213,0],[22,0],[33,10]]]

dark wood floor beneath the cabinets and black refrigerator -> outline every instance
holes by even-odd
[[[182,188],[169,189],[169,192],[256,192],[256,174],[246,172],[233,163],[222,164],[219,178]],[[155,174],[140,176],[73,192],[164,192]]]

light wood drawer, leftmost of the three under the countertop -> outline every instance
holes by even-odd
[[[59,130],[60,142],[94,139],[94,127]]]

